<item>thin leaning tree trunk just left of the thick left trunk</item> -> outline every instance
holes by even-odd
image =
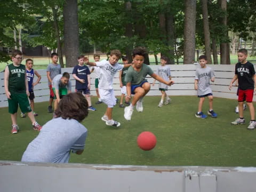
[[[55,30],[55,36],[57,38],[57,49],[58,49],[60,66],[61,66],[61,68],[63,68],[64,67],[64,62],[63,62],[63,55],[62,55],[62,49],[61,49],[60,30],[59,30],[59,26],[58,26],[57,9],[55,9],[55,7],[52,7],[53,27],[54,27],[54,30]]]

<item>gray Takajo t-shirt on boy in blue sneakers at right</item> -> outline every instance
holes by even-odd
[[[212,77],[215,77],[212,68],[206,66],[206,68],[200,67],[196,69],[195,79],[198,80],[197,95],[212,93],[212,89],[210,87],[210,80]]]

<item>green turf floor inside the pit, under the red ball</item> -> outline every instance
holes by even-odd
[[[124,165],[195,165],[195,166],[256,166],[256,131],[246,129],[250,120],[245,111],[245,125],[230,125],[238,117],[234,113],[235,100],[214,98],[214,111],[218,118],[195,117],[196,96],[171,97],[172,103],[157,107],[160,97],[146,97],[143,113],[134,110],[132,120],[123,117],[123,108],[114,108],[114,119],[121,127],[105,125],[101,116],[105,104],[94,105],[83,124],[88,129],[84,153],[72,154],[72,163],[124,164]],[[96,101],[92,97],[93,103]],[[37,121],[45,124],[52,118],[47,113],[47,102],[36,103]],[[208,108],[207,99],[204,112]],[[11,134],[11,118],[7,108],[0,108],[0,159],[20,161],[23,151],[38,132],[31,128],[26,118],[18,117],[21,131]],[[61,127],[60,127],[61,129]],[[70,127],[71,129],[71,127]],[[151,151],[137,146],[137,137],[143,131],[151,131],[157,137],[157,145]],[[60,143],[61,145],[61,143]]]

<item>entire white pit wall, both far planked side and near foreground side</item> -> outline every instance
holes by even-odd
[[[209,65],[215,72],[211,87],[214,97],[237,99],[237,87],[228,90],[234,76],[234,65]],[[150,66],[156,71],[157,66]],[[196,95],[195,70],[199,65],[170,65],[175,84],[169,95]],[[62,68],[72,73],[73,68]],[[35,102],[49,100],[46,70],[38,70],[41,83],[35,86]],[[114,90],[120,95],[118,73]],[[72,90],[75,80],[70,76]],[[0,107],[8,106],[4,93],[4,73],[0,73]],[[147,77],[149,83],[153,78]],[[91,95],[95,95],[94,73],[91,74]],[[151,86],[148,95],[160,95],[158,86]],[[255,99],[256,97],[254,97]],[[255,100],[254,100],[255,101]],[[133,166],[45,164],[0,161],[0,192],[5,191],[95,191],[95,192],[220,192],[256,191],[255,167],[202,166]]]

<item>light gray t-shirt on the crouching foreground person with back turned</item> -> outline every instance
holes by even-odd
[[[84,149],[87,129],[75,119],[53,118],[23,153],[22,162],[68,163],[70,152]]]

